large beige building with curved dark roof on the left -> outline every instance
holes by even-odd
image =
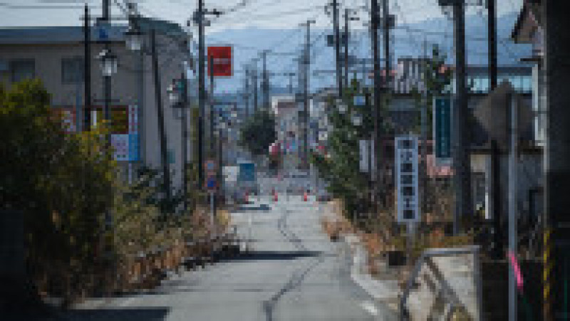
[[[170,108],[167,87],[187,68],[189,51],[183,43],[187,35],[180,26],[165,21],[145,19],[143,32],[157,31],[162,106],[165,115],[167,150],[172,182],[182,181],[181,121]],[[7,86],[26,78],[39,78],[51,94],[54,113],[63,115],[69,130],[83,128],[84,112],[90,112],[92,125],[103,119],[103,75],[98,54],[101,41],[107,39],[118,56],[118,72],[111,80],[111,117],[115,159],[125,179],[132,178],[140,164],[160,167],[160,140],[157,125],[156,93],[149,55],[131,52],[123,36],[126,26],[90,28],[91,103],[84,100],[84,33],[81,26],[0,28],[0,82]],[[147,42],[148,43],[148,42]],[[188,151],[190,152],[190,148]]]

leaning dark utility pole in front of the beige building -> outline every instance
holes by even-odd
[[[156,112],[158,120],[158,133],[160,135],[160,156],[162,161],[162,176],[165,181],[165,196],[170,201],[170,164],[168,163],[166,133],[165,133],[165,117],[162,110],[162,90],[160,85],[160,73],[158,72],[158,57],[156,53],[156,31],[154,28],[150,31],[150,50],[152,56],[152,77],[155,82],[155,98]]]

